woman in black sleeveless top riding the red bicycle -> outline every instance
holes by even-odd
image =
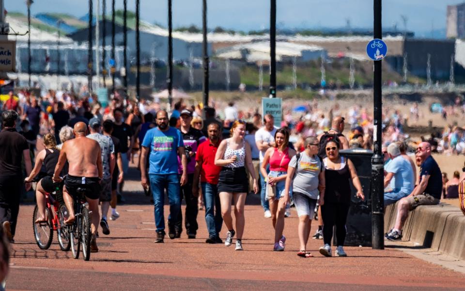
[[[42,178],[36,186],[35,190],[35,197],[37,199],[37,207],[39,209],[39,217],[35,221],[35,223],[45,222],[47,221],[47,217],[45,217],[45,208],[47,200],[45,195],[47,193],[54,192],[57,187],[61,188],[61,183],[53,183],[52,176],[55,172],[55,166],[58,162],[58,157],[60,156],[60,150],[57,148],[57,141],[55,140],[55,136],[51,133],[47,133],[44,136],[44,146],[45,148],[39,152],[35,159],[34,168],[31,171],[29,177],[25,178],[25,182],[31,182],[37,174],[39,174],[42,164],[45,164],[47,176]],[[67,163],[65,168],[62,170],[61,176],[64,176],[67,172]],[[62,199],[58,197],[58,199]]]

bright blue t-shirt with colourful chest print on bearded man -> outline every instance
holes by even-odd
[[[150,129],[142,146],[149,148],[149,174],[178,174],[178,147],[184,146],[181,131]]]

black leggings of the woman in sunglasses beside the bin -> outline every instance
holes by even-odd
[[[323,241],[331,245],[333,238],[333,227],[336,226],[336,239],[338,245],[345,242],[345,222],[349,213],[349,204],[325,203],[321,206],[321,217],[323,218]]]

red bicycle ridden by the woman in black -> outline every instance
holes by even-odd
[[[32,182],[38,182],[40,178],[35,178]],[[59,197],[61,194],[61,186],[57,187],[51,194],[47,193],[46,198],[46,209],[45,217],[46,221],[35,223],[39,216],[39,207],[36,205],[32,214],[32,228],[34,231],[35,242],[40,249],[46,250],[50,247],[53,241],[53,231],[57,232],[58,243],[62,251],[69,251],[70,240],[68,227],[64,224],[64,221],[68,217],[68,209],[63,203],[60,203],[60,199],[55,200],[53,196]],[[52,206],[53,205],[53,209]]]

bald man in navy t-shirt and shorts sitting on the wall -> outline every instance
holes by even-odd
[[[394,228],[386,234],[390,241],[402,239],[403,224],[407,220],[408,212],[419,205],[437,205],[442,193],[441,169],[431,156],[431,145],[422,142],[417,147],[416,157],[421,161],[420,179],[413,192],[399,201],[397,218]]]

